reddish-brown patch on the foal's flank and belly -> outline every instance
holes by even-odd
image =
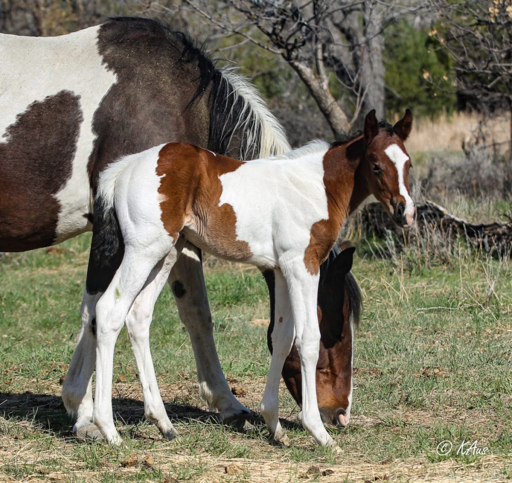
[[[219,176],[242,165],[237,159],[197,146],[170,143],[159,153],[157,174],[162,176],[162,223],[170,236],[186,227],[191,242],[221,258],[247,260],[247,242],[237,240],[237,217],[231,205],[219,206]],[[187,233],[188,235],[188,233]]]

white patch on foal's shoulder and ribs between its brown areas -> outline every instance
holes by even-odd
[[[315,142],[219,176],[219,206],[233,208],[237,239],[247,242],[254,254],[248,263],[277,267],[280,254],[292,247],[304,257],[311,226],[329,217],[323,166],[328,149],[327,143]]]

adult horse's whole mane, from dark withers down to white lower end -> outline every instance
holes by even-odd
[[[210,106],[209,137],[207,148],[220,154],[240,159],[253,159],[278,154],[290,149],[278,120],[267,110],[258,91],[245,79],[229,69],[216,65],[203,45],[198,45],[187,33],[172,30],[169,26],[149,18],[116,17],[103,24],[117,27],[109,30],[106,49],[112,45],[132,43],[156,46],[159,55],[168,50],[178,63],[192,66],[197,77],[197,87],[186,99],[189,109],[208,93]],[[135,41],[135,42],[134,42]],[[124,62],[123,59],[117,59]],[[174,61],[176,62],[176,61]],[[175,68],[176,66],[173,66]],[[194,74],[193,74],[194,75]],[[269,135],[269,132],[273,131]]]

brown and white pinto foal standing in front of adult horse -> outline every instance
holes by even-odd
[[[371,111],[363,134],[346,143],[316,141],[247,163],[171,143],[126,156],[101,173],[93,246],[105,263],[121,237],[125,246],[121,265],[96,307],[93,422],[111,444],[121,441],[112,414],[114,346],[141,291],[150,294],[153,304],[144,324],[127,328],[145,414],[164,435],[175,434],[158,392],[148,334],[154,301],[188,241],[220,258],[274,270],[277,323],[262,415],[272,438],[285,441],[278,390],[295,338],[301,359],[302,424],[319,444],[337,447],[322,423],[315,391],[319,266],[347,216],[370,194],[397,224],[412,224],[411,163],[403,146],[411,127],[409,110],[395,126],[378,123]]]

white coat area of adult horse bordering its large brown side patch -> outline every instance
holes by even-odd
[[[55,243],[90,229],[83,215],[92,212],[87,162],[95,135],[94,112],[117,76],[102,64],[98,53],[99,27],[59,37],[0,34],[0,136],[16,116],[35,101],[68,90],[80,96],[83,122],[73,158],[71,178],[56,194],[61,211]],[[77,61],[77,59],[79,59]],[[0,142],[5,139],[0,139]],[[67,139],[63,143],[69,142]],[[59,159],[55,159],[58,164]]]

